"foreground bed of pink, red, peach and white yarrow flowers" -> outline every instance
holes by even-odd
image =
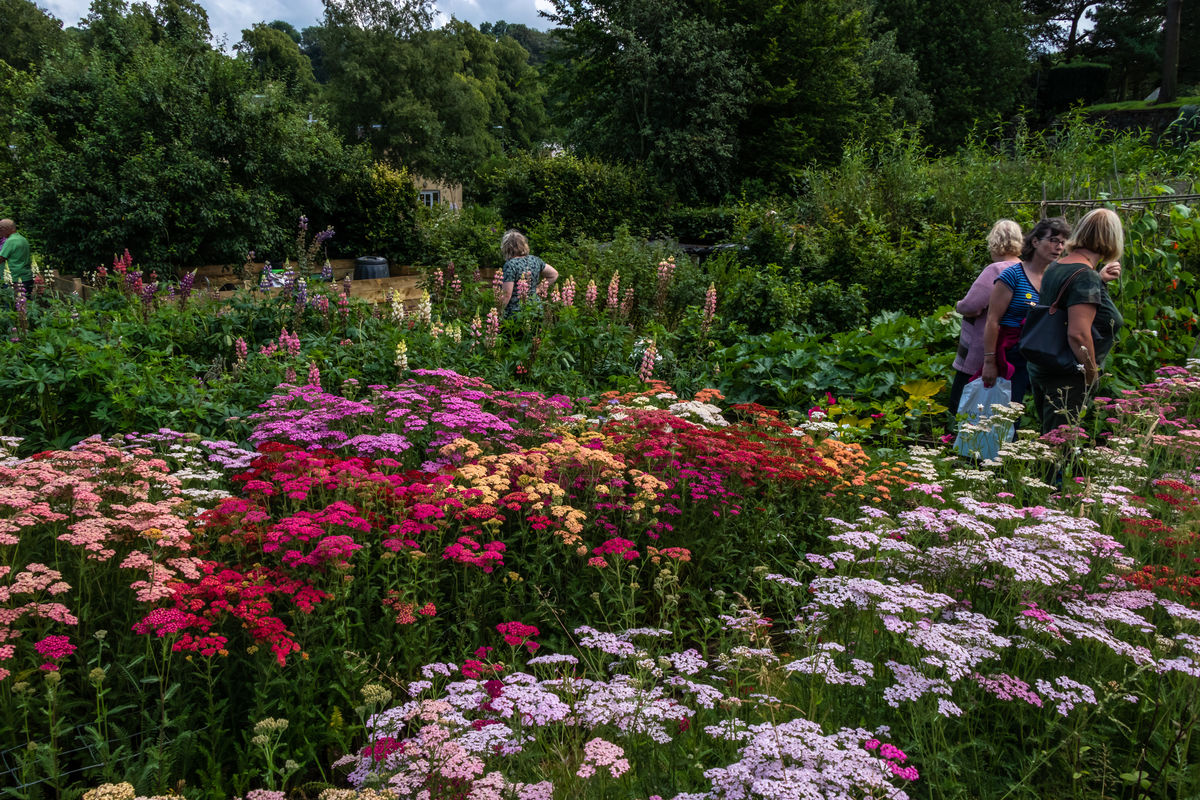
[[[8,458],[0,777],[1187,796],[1198,389],[1165,369],[982,468],[714,393],[445,371],[281,386],[254,452],[161,431]]]

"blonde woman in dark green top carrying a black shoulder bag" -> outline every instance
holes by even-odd
[[[1124,249],[1121,218],[1109,209],[1091,211],[1075,228],[1067,249],[1067,255],[1046,267],[1042,297],[1044,302],[1052,302],[1070,276],[1079,267],[1087,267],[1070,281],[1062,299],[1067,308],[1067,345],[1078,363],[1069,373],[1052,373],[1030,363],[1033,404],[1042,420],[1043,434],[1079,420],[1124,321],[1106,285],[1121,277],[1117,260]]]

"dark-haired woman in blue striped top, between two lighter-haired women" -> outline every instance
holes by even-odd
[[[1016,349],[1021,326],[1030,308],[1038,305],[1042,276],[1060,254],[1070,235],[1070,224],[1062,217],[1043,219],[1025,236],[1021,260],[1000,273],[988,300],[988,324],[983,330],[984,386],[992,386],[1003,375],[1013,381],[1013,399],[1025,402],[1030,373],[1025,357]]]

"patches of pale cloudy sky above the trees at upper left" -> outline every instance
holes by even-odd
[[[90,0],[35,0],[52,14],[62,20],[64,26],[77,25],[88,16]],[[254,23],[283,19],[304,30],[316,25],[324,14],[320,0],[199,0],[209,12],[209,26],[215,38],[224,36],[233,47],[241,40],[244,28]],[[440,25],[451,16],[466,19],[476,28],[480,23],[498,22],[524,23],[530,28],[546,30],[550,23],[538,16],[538,8],[551,7],[547,0],[436,0],[442,19]]]

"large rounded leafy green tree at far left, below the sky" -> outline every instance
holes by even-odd
[[[192,4],[100,0],[16,118],[19,213],[49,264],[125,247],[160,270],[282,252],[295,219],[337,224],[366,168],[280,88],[208,44]]]

